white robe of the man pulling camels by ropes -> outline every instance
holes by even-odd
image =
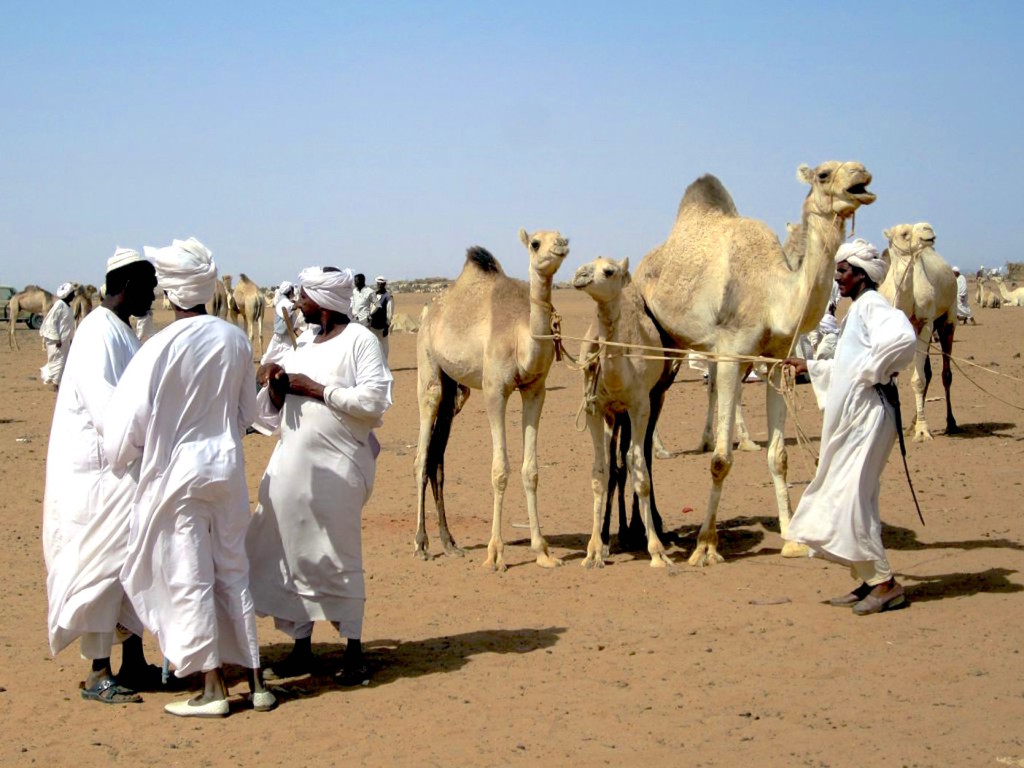
[[[821,452],[785,539],[840,562],[886,559],[879,490],[896,425],[874,385],[913,362],[914,349],[906,315],[867,291],[843,321],[836,357],[807,361],[824,409]]]

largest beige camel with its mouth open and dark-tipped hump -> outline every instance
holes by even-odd
[[[801,166],[798,178],[811,187],[801,216],[807,245],[798,269],[791,268],[766,224],[739,216],[717,178],[701,176],[687,187],[669,239],[644,257],[634,278],[654,321],[680,347],[715,355],[784,357],[799,334],[817,326],[828,303],[846,221],[861,205],[874,202],[874,195],[867,190],[871,174],[859,163]],[[712,487],[691,565],[722,561],[715,521],[732,468],[735,404],[744,369],[742,361],[718,361]],[[768,469],[784,535],[792,508],[780,386],[781,369],[775,367],[766,387]],[[782,549],[783,555],[805,553],[792,543]]]

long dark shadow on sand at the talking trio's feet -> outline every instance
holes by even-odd
[[[429,637],[422,640],[402,642],[401,640],[373,640],[364,643],[367,664],[371,671],[370,685],[387,685],[402,678],[424,677],[440,673],[457,672],[470,658],[481,653],[532,653],[550,648],[558,642],[564,627],[518,630],[479,630],[443,637]],[[260,656],[265,667],[284,658],[291,650],[290,644],[274,643],[261,648]],[[316,654],[311,675],[285,679],[281,682],[268,681],[279,698],[310,698],[340,688],[333,675],[341,667],[345,646],[341,643],[316,643]]]

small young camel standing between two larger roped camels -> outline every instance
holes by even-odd
[[[650,393],[658,382],[672,376],[673,361],[629,356],[647,354],[643,347],[662,345],[657,328],[644,310],[643,298],[630,281],[629,259],[612,261],[598,258],[584,264],[572,278],[572,287],[585,291],[597,303],[594,319],[580,350],[580,359],[591,362],[584,371],[584,395],[587,426],[594,445],[591,487],[594,492],[594,519],[587,545],[585,567],[602,567],[608,555],[601,536],[608,501],[608,464],[611,458],[612,429],[615,415],[627,414],[630,420],[630,446],[626,469],[633,493],[639,500],[640,516],[647,534],[647,552],[651,567],[671,565],[665,546],[654,530],[650,507],[650,467],[644,451],[644,437],[651,419]],[[600,342],[612,342],[606,346]],[[656,420],[657,414],[653,414]]]

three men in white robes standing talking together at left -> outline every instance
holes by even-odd
[[[348,638],[339,682],[361,682],[359,525],[392,379],[374,336],[349,323],[351,273],[303,270],[296,304],[309,326],[254,379],[245,334],[206,313],[210,252],[195,239],[144,252],[109,260],[106,297],[79,328],[57,394],[43,522],[51,651],[80,638],[92,664],[82,696],[138,701],[160,679],[145,629],[177,677],[204,678],[165,710],[222,717],[225,664],[248,671],[253,709],[275,705],[257,613],[301,641],[305,671],[312,623],[326,620]],[[174,321],[140,347],[129,319],[158,284]],[[254,423],[281,433],[255,517],[242,446]]]

